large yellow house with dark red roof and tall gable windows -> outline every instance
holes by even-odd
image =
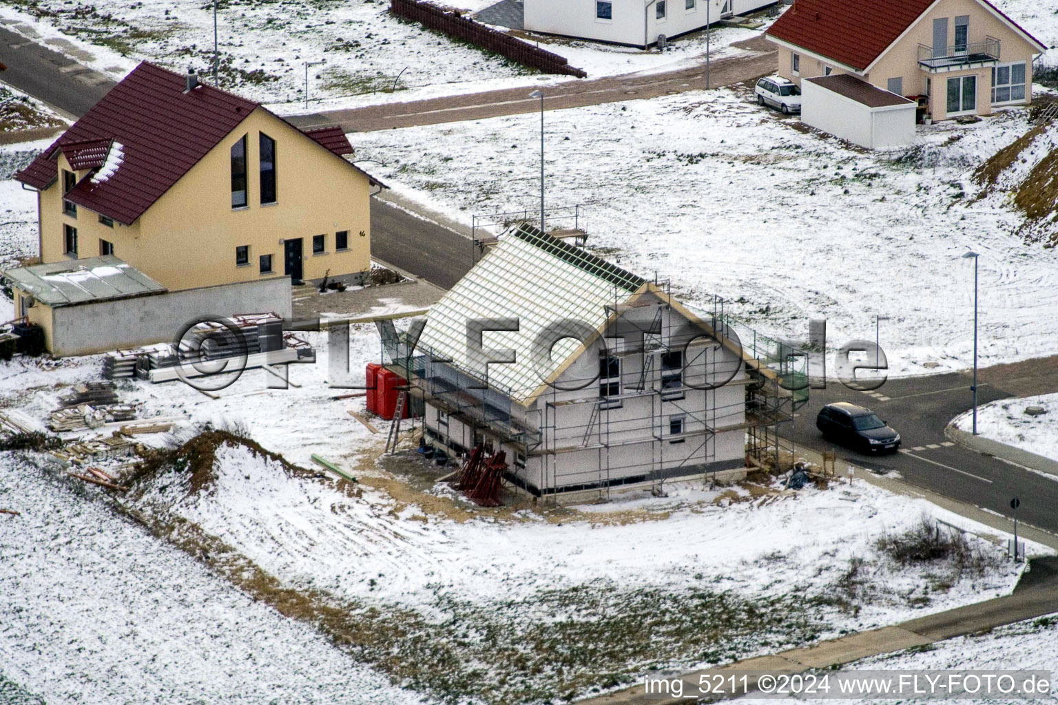
[[[170,292],[359,282],[382,185],[351,152],[338,128],[144,62],[16,178],[38,191],[44,264],[115,256]]]

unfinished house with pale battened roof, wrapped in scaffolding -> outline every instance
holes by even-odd
[[[735,479],[747,439],[761,457],[807,401],[800,351],[526,223],[433,307],[414,348],[398,334],[383,350],[435,445],[504,450],[507,480],[536,497]]]

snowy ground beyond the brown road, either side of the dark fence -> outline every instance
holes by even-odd
[[[385,0],[221,2],[221,85],[248,98],[278,104],[281,112],[304,111],[306,62],[310,96],[325,99],[316,109],[537,85],[536,72],[399,20],[388,7]],[[213,66],[213,5],[199,0],[114,0],[106,6],[88,0],[23,0],[0,6],[0,18],[29,38],[49,41],[114,77],[142,59],[177,71],[190,64],[203,74]],[[712,48],[723,56],[730,42],[755,34],[716,29]],[[596,78],[688,66],[706,50],[705,34],[677,41],[665,53],[551,37],[530,41]],[[398,90],[388,92],[395,86]]]

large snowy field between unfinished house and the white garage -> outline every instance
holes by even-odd
[[[584,204],[589,248],[671,277],[685,300],[761,332],[835,347],[874,339],[893,374],[970,365],[981,253],[985,364],[1051,353],[1058,252],[1013,235],[1020,215],[971,203],[973,168],[1028,129],[1023,111],[931,126],[914,147],[852,149],[722,89],[547,113],[546,197]],[[402,196],[470,222],[539,208],[540,123],[529,115],[350,135]],[[458,169],[451,168],[458,164]]]

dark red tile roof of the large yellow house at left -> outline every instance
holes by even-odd
[[[15,178],[34,188],[47,188],[57,177],[55,161],[61,150],[68,160],[72,156],[77,162],[75,168],[97,169],[66,198],[131,224],[259,107],[212,86],[199,85],[189,93],[185,88],[183,74],[144,61]],[[352,151],[344,134],[344,145],[330,131],[326,144],[307,136],[340,159],[347,152],[338,149]],[[104,166],[108,155],[110,163]],[[372,185],[381,185],[364,175]]]

